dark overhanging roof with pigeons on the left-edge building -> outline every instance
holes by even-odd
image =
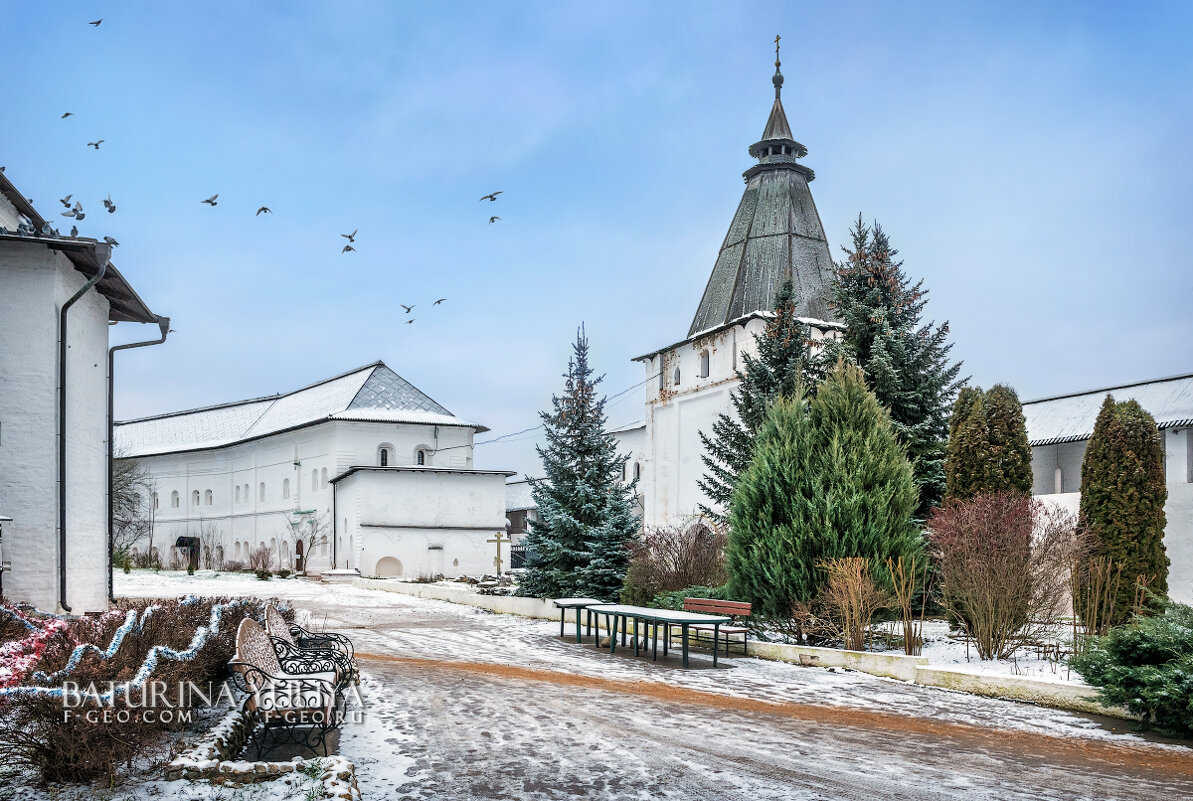
[[[149,310],[120,271],[109,261],[112,254],[110,245],[80,236],[41,235],[39,232],[47,224],[45,218],[2,172],[0,172],[0,196],[12,204],[18,215],[27,217],[38,232],[33,235],[8,232],[0,234],[0,242],[36,242],[58,251],[88,279],[99,271],[100,265],[107,264],[107,271],[95,284],[97,291],[107,298],[107,319],[112,322],[157,322],[157,315]]]

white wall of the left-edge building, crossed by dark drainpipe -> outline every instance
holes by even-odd
[[[47,610],[58,600],[58,309],[85,283],[43,245],[0,245],[0,512],[13,518],[4,526],[12,562],[4,593]],[[75,612],[107,606],[107,313],[92,289],[68,316],[67,604]]]

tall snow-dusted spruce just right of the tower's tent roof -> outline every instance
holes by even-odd
[[[945,494],[945,437],[962,365],[948,362],[948,324],[923,322],[928,291],[895,260],[898,251],[882,227],[867,227],[859,215],[849,234],[853,247],[845,248],[847,259],[833,284],[845,334],[829,343],[828,356],[852,358],[890,412],[915,469],[916,519],[923,520]]]

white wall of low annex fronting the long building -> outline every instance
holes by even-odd
[[[363,575],[494,573],[506,530],[506,476],[446,470],[360,470],[340,482],[345,559]],[[345,552],[341,552],[345,553]],[[509,549],[502,548],[502,568]]]

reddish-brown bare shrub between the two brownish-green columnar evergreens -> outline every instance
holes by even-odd
[[[1016,493],[951,499],[928,525],[945,609],[982,659],[1006,659],[1056,629],[1070,563],[1084,549],[1075,518]]]

